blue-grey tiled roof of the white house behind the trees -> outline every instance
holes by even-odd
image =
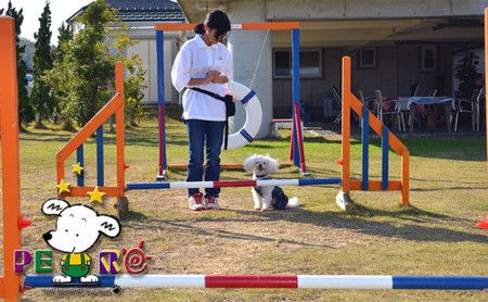
[[[184,21],[180,5],[170,0],[105,0],[105,3],[118,10],[117,18],[128,23]],[[82,7],[67,21],[72,21],[86,9],[87,5]]]

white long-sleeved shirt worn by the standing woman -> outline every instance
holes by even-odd
[[[187,41],[171,70],[171,80],[180,92],[192,78],[205,78],[209,71],[218,71],[232,80],[232,55],[222,45],[207,46],[201,35]],[[226,95],[226,85],[209,83],[198,86],[221,97]],[[183,93],[184,119],[226,121],[226,104],[210,96],[187,89]]]

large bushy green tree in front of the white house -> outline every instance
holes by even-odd
[[[123,61],[127,68],[125,99],[129,118],[133,122],[142,112],[145,72],[138,55],[124,56],[136,41],[129,39],[125,32],[127,26],[117,21],[115,14],[116,10],[111,11],[103,0],[93,1],[76,18],[85,28],[70,42],[60,42],[54,67],[46,78],[55,89],[60,116],[65,124],[69,118],[84,126],[114,96],[116,61]],[[72,35],[73,32],[66,33],[67,38]]]

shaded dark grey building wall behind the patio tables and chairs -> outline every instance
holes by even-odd
[[[323,102],[332,98],[330,89],[341,90],[342,58],[351,56],[351,90],[362,90],[365,97],[381,89],[384,96],[407,97],[410,87],[419,84],[419,93],[438,89],[438,96],[452,96],[452,52],[455,45],[437,45],[437,71],[421,71],[421,45],[376,47],[376,68],[358,67],[358,50],[324,48],[322,78],[300,78],[300,100],[307,103],[312,121],[323,122]],[[455,90],[455,87],[454,87]],[[292,80],[273,79],[273,117],[291,117]]]

